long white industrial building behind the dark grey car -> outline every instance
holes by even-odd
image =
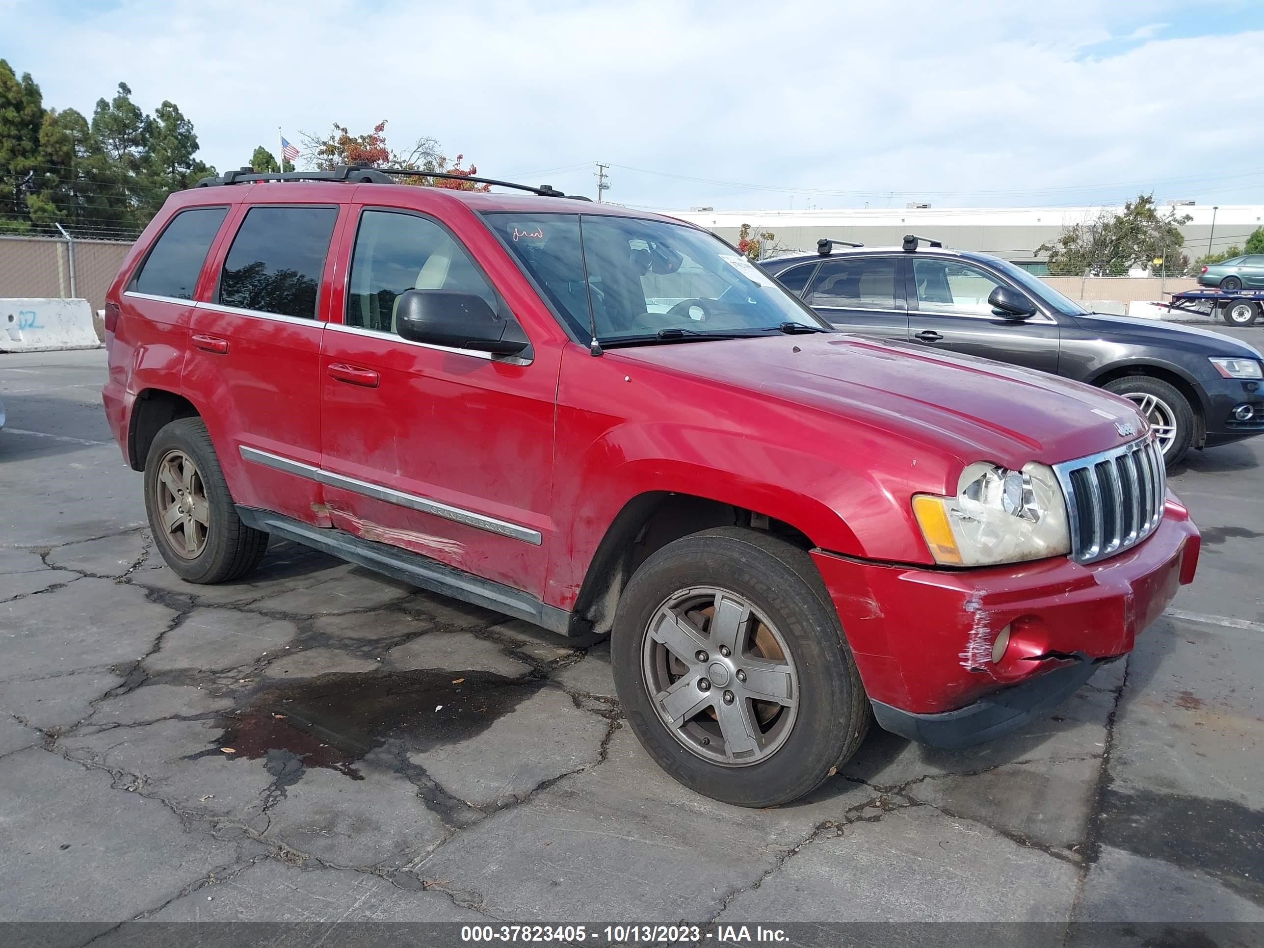
[[[981,250],[1012,260],[1034,273],[1045,273],[1042,244],[1054,243],[1068,225],[1101,212],[1101,207],[934,207],[834,209],[806,211],[715,211],[693,209],[669,211],[671,216],[713,230],[729,241],[750,224],[756,231],[775,234],[777,252],[811,250],[820,238],[854,240],[867,246],[899,246],[905,234],[943,241],[958,250]],[[1182,225],[1181,248],[1191,260],[1211,250],[1222,253],[1241,245],[1248,235],[1264,226],[1264,205],[1174,206],[1192,220]],[[1160,205],[1167,214],[1168,205]],[[1215,221],[1213,221],[1215,219]]]

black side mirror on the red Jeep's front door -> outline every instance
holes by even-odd
[[[412,343],[514,355],[530,345],[513,320],[502,320],[477,293],[406,289],[396,308],[396,330]]]

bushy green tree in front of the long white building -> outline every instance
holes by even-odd
[[[1192,220],[1174,209],[1160,215],[1153,195],[1138,195],[1122,210],[1102,209],[1095,216],[1063,229],[1049,254],[1049,273],[1058,277],[1121,277],[1144,267],[1155,276],[1184,273],[1181,225]]]

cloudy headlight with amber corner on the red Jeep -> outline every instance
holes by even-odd
[[[913,513],[942,566],[1021,562],[1071,550],[1058,478],[1035,461],[1023,470],[971,464],[956,497],[914,494]]]

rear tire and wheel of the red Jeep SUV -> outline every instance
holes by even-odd
[[[164,516],[173,506],[181,516],[168,530]],[[158,552],[190,583],[240,579],[268,551],[268,535],[238,517],[201,418],[177,418],[154,436],[145,458],[145,513]]]

